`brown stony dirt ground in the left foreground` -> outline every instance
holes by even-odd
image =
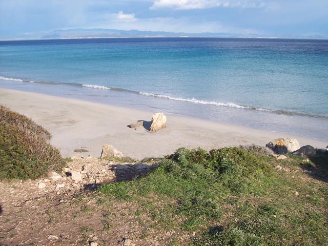
[[[76,158],[60,177],[0,183],[0,245],[170,244],[174,232],[152,233],[131,203],[109,206],[94,195],[99,184],[131,180],[152,164]]]

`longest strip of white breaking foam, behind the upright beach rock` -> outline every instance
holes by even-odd
[[[260,110],[260,111],[268,111],[272,112],[271,110],[262,109],[262,108],[255,108],[255,107],[249,107],[249,106],[242,106],[238,104],[233,103],[221,103],[217,101],[206,101],[206,100],[198,100],[195,98],[182,98],[182,97],[172,97],[167,95],[159,95],[159,94],[153,94],[153,93],[147,93],[147,92],[139,92],[142,96],[152,96],[152,97],[158,97],[158,98],[166,98],[171,99],[175,101],[187,101],[188,103],[194,103],[194,104],[203,104],[203,105],[213,105],[213,106],[223,106],[223,107],[230,107],[230,108],[237,108],[237,109],[254,109],[254,110]]]

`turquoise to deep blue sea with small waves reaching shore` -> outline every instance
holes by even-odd
[[[0,87],[328,140],[328,40],[2,41]]]

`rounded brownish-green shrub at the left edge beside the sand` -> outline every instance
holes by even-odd
[[[0,180],[35,179],[65,160],[49,144],[51,135],[24,115],[0,106]]]

